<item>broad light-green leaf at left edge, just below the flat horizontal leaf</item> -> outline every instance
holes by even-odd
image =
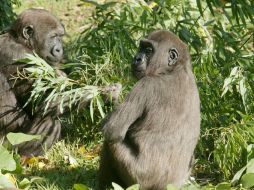
[[[13,155],[10,154],[2,145],[0,145],[0,160],[0,171],[14,171],[16,169],[16,162],[13,159]],[[4,162],[2,160],[4,160]]]

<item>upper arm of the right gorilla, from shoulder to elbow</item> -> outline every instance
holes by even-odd
[[[142,116],[145,109],[148,81],[141,79],[136,83],[125,101],[110,115],[103,127],[108,142],[123,141],[130,126]]]

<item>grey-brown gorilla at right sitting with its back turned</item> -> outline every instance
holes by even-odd
[[[99,189],[116,182],[141,190],[181,187],[200,131],[200,105],[187,46],[168,31],[141,40],[140,80],[111,114],[103,134]]]

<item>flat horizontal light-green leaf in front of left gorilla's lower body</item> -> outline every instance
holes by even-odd
[[[27,135],[24,133],[8,133],[6,137],[12,145],[17,145],[31,140],[41,139],[41,135]]]

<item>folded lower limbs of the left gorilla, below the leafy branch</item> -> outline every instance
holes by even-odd
[[[6,77],[0,72],[0,139],[8,132],[23,132],[27,134],[41,134],[38,141],[26,142],[18,145],[23,155],[39,155],[43,151],[42,144],[51,147],[55,139],[60,136],[60,122],[50,114],[41,112],[33,118],[18,105],[16,96]]]

